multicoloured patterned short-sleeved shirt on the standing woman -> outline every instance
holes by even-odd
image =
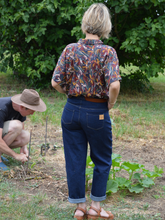
[[[101,40],[80,39],[63,50],[52,78],[68,96],[108,99],[109,85],[121,80],[116,51]]]

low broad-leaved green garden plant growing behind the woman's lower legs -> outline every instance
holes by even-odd
[[[86,163],[86,183],[93,177],[94,164],[88,156]],[[124,177],[119,176],[120,171]],[[128,190],[131,193],[141,193],[144,188],[155,185],[156,177],[161,177],[162,168],[154,166],[154,171],[144,169],[144,165],[129,161],[122,162],[120,154],[112,154],[112,167],[107,182],[107,194],[116,193],[118,190]]]

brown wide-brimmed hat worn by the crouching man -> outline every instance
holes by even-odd
[[[11,97],[12,102],[29,108],[33,111],[44,112],[46,105],[40,98],[37,91],[33,89],[24,89],[22,94],[17,94]]]

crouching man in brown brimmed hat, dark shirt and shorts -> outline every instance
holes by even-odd
[[[22,163],[28,160],[27,144],[30,133],[24,130],[26,116],[35,111],[44,112],[46,105],[37,91],[25,89],[13,97],[0,98],[0,170],[7,170],[3,163],[6,154]],[[20,154],[12,149],[20,147]]]

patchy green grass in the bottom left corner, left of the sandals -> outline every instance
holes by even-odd
[[[2,181],[2,179],[1,179]],[[43,194],[26,195],[13,184],[0,182],[0,220],[72,219],[71,208],[60,209],[60,203],[47,205]]]

